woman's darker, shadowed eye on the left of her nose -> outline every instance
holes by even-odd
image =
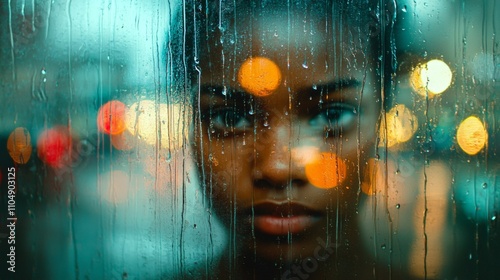
[[[246,114],[232,107],[214,108],[211,123],[215,130],[233,133],[245,131],[252,124]]]

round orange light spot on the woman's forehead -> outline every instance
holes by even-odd
[[[278,65],[268,58],[249,58],[238,71],[238,82],[250,94],[267,96],[280,85],[281,71]]]

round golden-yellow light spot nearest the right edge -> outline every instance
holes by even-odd
[[[466,118],[458,127],[458,145],[469,155],[479,153],[486,145],[487,140],[488,132],[483,122],[475,116]]]

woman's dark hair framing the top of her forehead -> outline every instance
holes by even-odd
[[[384,4],[381,4],[383,2]],[[186,0],[178,15],[177,32],[172,45],[182,57],[174,65],[184,65],[185,71],[176,71],[176,81],[183,85],[184,92],[196,91],[200,73],[199,60],[210,52],[209,39],[221,38],[220,44],[231,44],[241,36],[229,26],[247,18],[256,17],[321,17],[330,25],[340,28],[348,25],[358,43],[367,46],[367,52],[377,63],[377,75],[381,78],[382,97],[387,98],[392,73],[395,72],[395,55],[392,46],[392,25],[395,4],[384,0],[234,0],[196,1]],[[286,15],[283,15],[286,12]],[[365,40],[365,41],[361,41]],[[346,47],[349,47],[348,45]],[[173,53],[177,53],[173,51]],[[215,54],[217,55],[217,54]]]

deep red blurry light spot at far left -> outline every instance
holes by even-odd
[[[62,167],[69,163],[71,141],[67,127],[47,129],[38,137],[38,157],[52,167]]]

